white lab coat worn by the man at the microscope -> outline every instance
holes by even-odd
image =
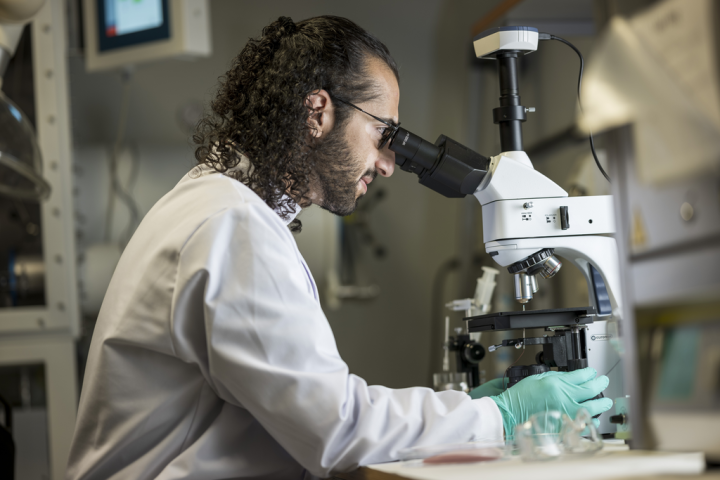
[[[201,168],[152,208],[95,327],[68,479],[323,477],[501,438],[490,399],[348,372],[287,223]]]

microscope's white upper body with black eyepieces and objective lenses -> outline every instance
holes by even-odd
[[[589,292],[594,285],[592,265],[603,278],[612,312],[619,318],[617,245],[608,236],[615,233],[612,197],[568,197],[559,185],[535,170],[522,151],[488,159],[445,136],[432,145],[402,128],[389,148],[400,168],[415,173],[428,188],[451,198],[474,192],[483,209],[485,249],[498,265],[512,270],[518,262],[542,251],[554,258],[549,249],[555,249],[580,268]],[[554,261],[557,271],[561,263]],[[522,268],[511,273],[518,274],[516,279],[527,274],[524,280],[532,281],[532,293],[537,291],[538,271]],[[527,303],[532,293],[519,301]],[[600,312],[594,295],[590,297]]]

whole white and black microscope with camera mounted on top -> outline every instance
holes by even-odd
[[[534,52],[540,39],[551,39],[532,27],[499,27],[473,40],[478,58],[497,61],[500,106],[493,110],[500,128],[502,152],[487,158],[441,135],[434,144],[397,127],[389,148],[400,169],[415,173],[419,183],[450,198],[473,195],[482,205],[486,252],[514,275],[515,298],[523,311],[466,317],[467,331],[513,331],[517,338],[488,348],[542,345],[535,364],[508,369],[509,384],[557,368],[593,367],[610,378],[605,396],[624,396],[618,354],[618,321],[622,305],[615,219],[609,195],[569,197],[555,182],[533,168],[523,151],[522,122],[534,109],[520,104],[518,61]],[[553,37],[555,39],[556,37]],[[589,306],[525,310],[540,288],[572,263],[583,272]],[[527,329],[548,335],[526,338]],[[600,432],[611,434],[609,412],[600,416]]]

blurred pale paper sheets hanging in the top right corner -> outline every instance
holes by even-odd
[[[720,166],[717,25],[713,0],[657,2],[630,19],[614,17],[594,50],[578,126],[599,132],[632,123],[642,183]]]

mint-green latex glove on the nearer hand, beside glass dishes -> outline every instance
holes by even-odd
[[[502,413],[505,435],[513,435],[515,425],[537,412],[557,410],[575,418],[579,408],[586,409],[590,416],[610,410],[613,401],[609,398],[586,401],[610,383],[605,375],[595,378],[596,375],[594,368],[545,372],[523,378],[501,394],[490,397]]]

